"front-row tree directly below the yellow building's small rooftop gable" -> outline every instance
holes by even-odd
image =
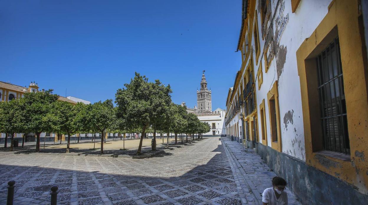
[[[24,111],[24,125],[36,135],[36,151],[40,150],[40,133],[51,131],[49,112],[51,105],[59,96],[52,94],[52,89],[42,92],[26,92],[20,99]]]

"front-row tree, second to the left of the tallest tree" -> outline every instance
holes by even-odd
[[[51,122],[51,127],[54,132],[68,135],[67,150],[70,149],[70,137],[78,131],[84,131],[86,105],[77,103],[73,105],[69,102],[57,100],[52,103],[48,117]]]

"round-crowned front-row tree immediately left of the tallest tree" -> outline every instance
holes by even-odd
[[[96,102],[89,105],[86,111],[86,120],[92,133],[101,134],[101,154],[103,154],[104,132],[116,121],[114,105],[111,99],[105,102]]]

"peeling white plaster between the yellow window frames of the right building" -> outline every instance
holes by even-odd
[[[282,138],[282,152],[305,161],[304,127],[302,116],[300,80],[297,69],[296,51],[305,38],[309,37],[315,28],[328,12],[331,0],[300,1],[297,12],[291,12],[291,1],[280,0],[284,3],[283,16],[288,15],[288,21],[282,30],[279,42],[274,42],[274,58],[270,63],[268,72],[265,73],[265,59],[258,59],[258,65],[254,65],[258,70],[259,61],[262,59],[263,83],[261,89],[257,91],[257,107],[265,99],[265,119],[267,126],[267,142],[271,146],[269,106],[267,93],[275,81],[278,81],[280,128]],[[277,0],[271,0],[273,15]],[[258,5],[258,2],[256,3]],[[280,6],[277,8],[279,10]],[[258,25],[261,29],[261,17],[258,15]],[[272,16],[271,16],[272,18]],[[275,17],[276,19],[277,17]],[[275,22],[275,19],[273,22]],[[274,23],[275,24],[275,23]],[[274,36],[279,34],[279,30],[273,26]],[[261,33],[260,33],[261,35]],[[254,38],[252,39],[254,46]],[[261,51],[263,51],[265,41],[260,39]],[[255,59],[255,54],[254,54]],[[258,81],[256,81],[258,87]],[[261,117],[258,112],[258,125],[261,124]],[[259,129],[258,129],[259,130]],[[259,130],[259,135],[261,132]]]

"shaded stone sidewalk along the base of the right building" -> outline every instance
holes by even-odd
[[[259,201],[262,204],[263,190],[272,187],[272,178],[276,176],[275,172],[271,171],[266,162],[253,149],[248,149],[248,152],[243,151],[240,143],[231,141],[229,138],[222,138],[222,142],[226,146],[231,162],[236,167],[235,173],[239,173],[238,179],[241,182],[242,190],[245,190],[248,203]],[[301,204],[288,188],[285,191],[289,204]]]

